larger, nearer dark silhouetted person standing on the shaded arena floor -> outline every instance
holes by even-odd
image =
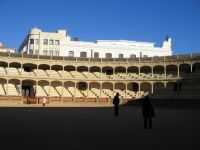
[[[154,108],[153,108],[148,96],[146,96],[142,100],[142,112],[143,112],[143,118],[144,118],[144,128],[145,129],[147,128],[147,121],[148,121],[149,129],[152,129],[152,117],[155,114],[154,114]]]

